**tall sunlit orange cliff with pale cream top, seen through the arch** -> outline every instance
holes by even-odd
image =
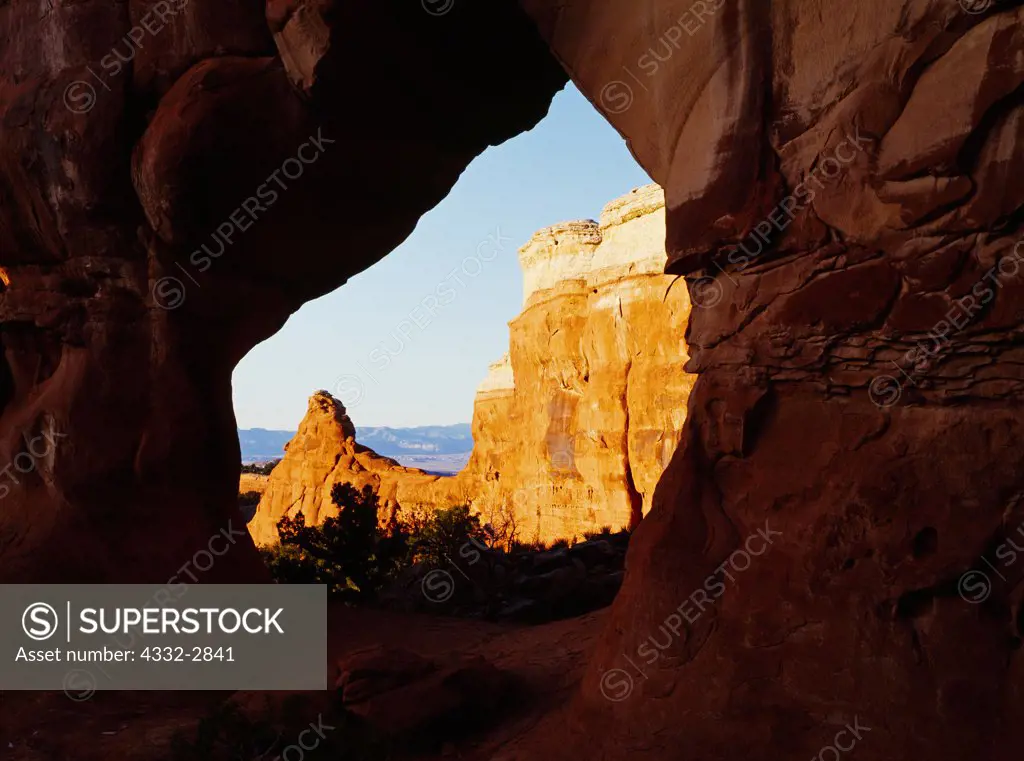
[[[640,520],[693,381],[683,371],[689,296],[664,273],[664,237],[662,191],[648,185],[599,222],[530,238],[519,250],[523,310],[477,392],[469,464],[408,500],[468,498],[486,520],[513,516],[530,542]]]

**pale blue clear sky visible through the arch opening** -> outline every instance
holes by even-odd
[[[568,85],[534,130],[478,157],[401,246],[239,363],[239,426],[294,430],[318,388],[346,404],[356,428],[468,423],[522,306],[518,248],[549,224],[596,219],[649,181]]]

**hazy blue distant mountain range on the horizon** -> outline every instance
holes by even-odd
[[[285,445],[294,435],[295,431],[239,428],[242,462],[283,457]],[[378,455],[395,459],[411,455],[460,455],[473,449],[469,423],[421,425],[415,428],[356,426],[355,440]]]

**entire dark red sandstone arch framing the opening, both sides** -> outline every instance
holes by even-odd
[[[231,504],[233,362],[393,247],[487,143],[543,115],[563,75],[510,3],[427,5],[450,11],[271,3],[296,91],[260,8],[200,25],[197,0],[85,118],[63,88],[130,19],[92,4],[42,20],[24,3],[0,9],[16,40],[0,69],[0,451],[69,434],[0,503],[4,580],[110,579],[125,562],[140,581],[173,573]],[[982,604],[957,585],[1001,559],[1024,520],[1021,9],[522,7],[666,188],[670,269],[708,307],[688,331],[701,378],[685,441],[573,708],[578,747],[599,727],[607,757],[814,755],[859,716],[872,727],[862,759],[1009,758],[1024,718],[1021,564]],[[393,52],[368,74],[382,39]],[[154,306],[154,284],[321,125],[351,150],[311,165],[178,310]],[[333,253],[325,215],[342,210],[362,222]],[[288,243],[301,246],[283,261]],[[782,536],[763,563],[676,625],[629,700],[605,700],[621,654],[766,521]],[[216,578],[254,573],[246,547],[231,557]]]

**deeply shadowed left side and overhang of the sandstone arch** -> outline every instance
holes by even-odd
[[[328,5],[303,91],[270,57],[292,6],[0,6],[0,581],[163,583],[205,549],[238,515],[234,364],[565,81],[511,0]],[[203,580],[261,574],[242,540]]]

